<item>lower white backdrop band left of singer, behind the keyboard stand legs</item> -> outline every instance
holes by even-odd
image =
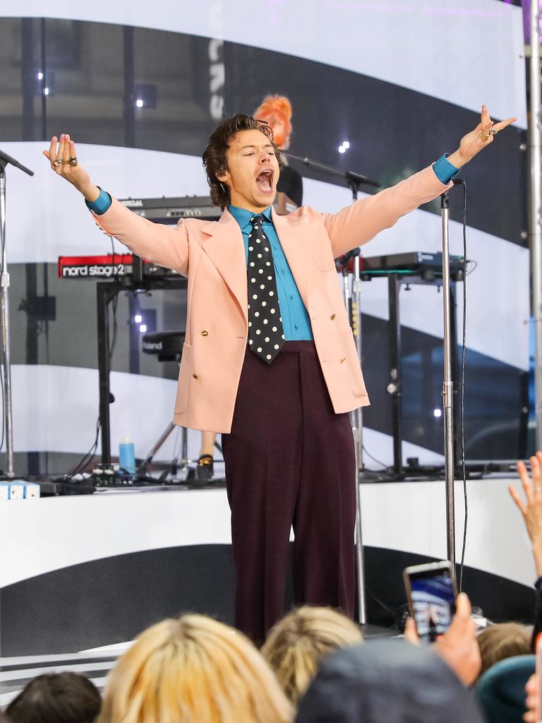
[[[13,427],[16,452],[48,451],[83,455],[95,437],[98,371],[77,367],[15,364],[12,367]],[[160,377],[111,372],[111,454],[122,437],[145,457],[173,417],[176,382]],[[171,460],[178,448],[177,427],[156,455]],[[199,454],[199,432],[189,430],[191,458]],[[100,453],[98,446],[98,453]],[[59,474],[67,470],[56,470]]]

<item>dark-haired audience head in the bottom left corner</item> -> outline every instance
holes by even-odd
[[[6,709],[11,723],[93,723],[100,693],[84,675],[38,675]]]

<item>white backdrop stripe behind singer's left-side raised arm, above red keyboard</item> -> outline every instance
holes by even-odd
[[[30,178],[7,168],[8,262],[56,262],[62,255],[111,253],[109,237],[95,226],[82,196],[51,171],[41,155],[44,147],[43,142],[1,144],[5,153],[35,172]],[[91,179],[117,198],[209,194],[197,156],[84,143],[77,145],[77,154]]]

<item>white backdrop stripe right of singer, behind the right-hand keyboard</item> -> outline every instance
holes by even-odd
[[[351,201],[348,189],[304,179],[306,202],[331,213]],[[361,194],[361,197],[364,194]],[[453,195],[452,203],[460,204]],[[480,200],[473,198],[471,203]],[[492,356],[518,369],[529,368],[529,264],[528,249],[491,236],[477,228],[467,228],[468,258],[476,268],[467,277],[467,347]],[[463,226],[449,223],[450,253],[463,256]],[[408,251],[442,251],[439,215],[416,210],[382,231],[361,247],[363,256],[381,256]],[[387,319],[389,304],[387,280],[374,279],[361,284],[364,314]],[[461,340],[463,284],[457,284],[457,338]],[[400,321],[404,326],[442,338],[442,294],[436,286],[416,286],[400,294]],[[370,391],[370,390],[369,390]]]

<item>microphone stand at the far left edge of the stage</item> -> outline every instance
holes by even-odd
[[[9,273],[7,270],[6,250],[6,166],[20,168],[25,174],[33,176],[34,172],[16,161],[11,155],[0,150],[0,245],[2,249],[0,273],[0,317],[2,334],[2,357],[4,361],[4,414],[6,424],[6,476],[12,479],[13,470],[13,407],[12,407],[12,360],[9,337]]]

